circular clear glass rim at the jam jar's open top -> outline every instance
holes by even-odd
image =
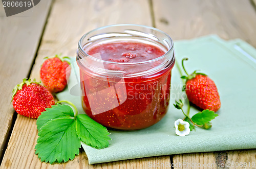
[[[144,27],[144,28],[148,28],[148,29],[152,29],[152,30],[155,30],[157,32],[160,32],[162,34],[164,34],[168,40],[170,41],[170,47],[168,49],[167,52],[165,52],[165,54],[163,54],[162,56],[160,57],[157,57],[155,59],[151,59],[151,60],[146,60],[146,61],[142,61],[142,62],[113,62],[113,61],[106,61],[106,60],[101,60],[101,59],[98,59],[98,58],[95,58],[91,55],[89,55],[88,53],[86,53],[86,51],[83,50],[83,46],[82,46],[82,40],[87,36],[89,35],[90,33],[93,33],[95,31],[98,31],[98,30],[101,30],[101,29],[105,29],[105,28],[110,28],[110,27],[123,27],[123,26],[135,26],[135,27]],[[102,63],[107,63],[107,64],[117,64],[117,65],[137,65],[137,64],[145,64],[145,63],[153,63],[153,62],[156,62],[158,60],[161,60],[163,58],[165,58],[166,56],[169,56],[169,53],[171,53],[173,51],[173,48],[174,48],[174,42],[173,42],[173,39],[170,38],[170,36],[168,34],[166,34],[165,32],[157,29],[157,28],[154,28],[154,27],[149,27],[149,26],[144,26],[144,25],[137,25],[137,24],[116,24],[116,25],[108,25],[108,26],[104,26],[104,27],[99,27],[99,28],[96,28],[94,30],[91,30],[89,31],[88,33],[84,34],[79,42],[78,42],[78,51],[82,53],[82,55],[84,55],[84,57],[89,57],[90,59],[94,60],[94,61],[98,61],[98,62],[102,62]],[[172,56],[172,58],[170,59],[173,59],[174,55]]]

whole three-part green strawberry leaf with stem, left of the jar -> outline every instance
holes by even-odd
[[[81,142],[94,148],[109,146],[110,133],[105,127],[95,122],[86,114],[77,115],[74,104],[68,101],[68,105],[57,104],[47,108],[38,117],[36,124],[38,139],[35,146],[35,154],[43,162],[62,162],[73,160],[79,154]]]

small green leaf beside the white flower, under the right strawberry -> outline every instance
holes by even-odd
[[[215,114],[214,111],[207,109],[195,114],[191,119],[198,125],[204,125],[205,123],[210,122],[210,120],[214,119],[216,116],[218,116],[218,114]]]

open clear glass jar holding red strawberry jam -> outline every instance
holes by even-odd
[[[154,45],[165,54],[135,63],[88,54],[92,46],[110,42]],[[83,110],[113,129],[137,130],[156,124],[167,112],[174,63],[173,40],[156,28],[111,25],[83,35],[77,51]]]

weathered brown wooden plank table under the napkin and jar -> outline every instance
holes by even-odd
[[[79,38],[105,25],[153,26],[174,40],[218,34],[224,39],[241,38],[256,47],[255,4],[256,0],[42,0],[32,9],[10,17],[0,7],[0,168],[147,168],[149,162],[177,167],[183,162],[200,163],[202,167],[224,163],[227,167],[231,162],[256,162],[255,150],[238,150],[89,165],[81,150],[67,163],[41,163],[34,155],[36,120],[17,115],[10,104],[12,89],[23,78],[39,80],[42,58],[58,53],[75,57]]]

